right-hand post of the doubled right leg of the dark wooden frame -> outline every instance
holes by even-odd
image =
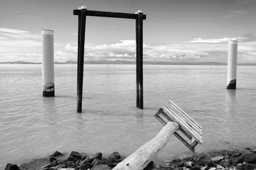
[[[139,108],[143,109],[143,13],[138,11]]]

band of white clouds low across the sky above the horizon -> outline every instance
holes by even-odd
[[[143,44],[143,60],[150,62],[227,62],[228,41],[231,38],[195,38],[188,42]],[[238,62],[256,63],[256,36],[237,37]],[[28,31],[0,28],[1,61],[41,61],[40,35]],[[77,44],[68,43],[54,53],[54,60],[77,60]],[[121,40],[113,44],[86,44],[84,60],[136,60],[136,41]]]

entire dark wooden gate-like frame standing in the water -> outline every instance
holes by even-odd
[[[108,11],[86,10],[81,6],[73,11],[78,15],[78,40],[77,40],[77,112],[82,112],[83,100],[83,71],[84,71],[84,35],[86,16],[127,18],[136,20],[136,106],[143,109],[143,20],[146,15],[142,11],[133,13],[118,13]]]

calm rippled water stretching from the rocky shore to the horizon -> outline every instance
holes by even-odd
[[[136,108],[134,65],[86,65],[83,113],[76,113],[76,65],[55,65],[56,97],[42,97],[40,65],[0,65],[0,169],[60,152],[118,151],[127,156],[162,125],[154,113],[169,99],[203,127],[196,152],[253,146],[256,67],[144,66],[144,110]],[[156,160],[191,154],[176,138]]]

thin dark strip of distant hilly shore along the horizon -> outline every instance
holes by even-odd
[[[42,62],[25,62],[25,61],[13,61],[13,62],[0,62],[0,64],[42,64]],[[67,61],[67,62],[54,62],[54,64],[77,64],[76,61]],[[136,64],[135,62],[84,62],[84,64]],[[202,65],[202,66],[227,66],[227,63],[221,62],[143,62],[145,65]],[[256,63],[239,63],[237,66],[256,66]]]

